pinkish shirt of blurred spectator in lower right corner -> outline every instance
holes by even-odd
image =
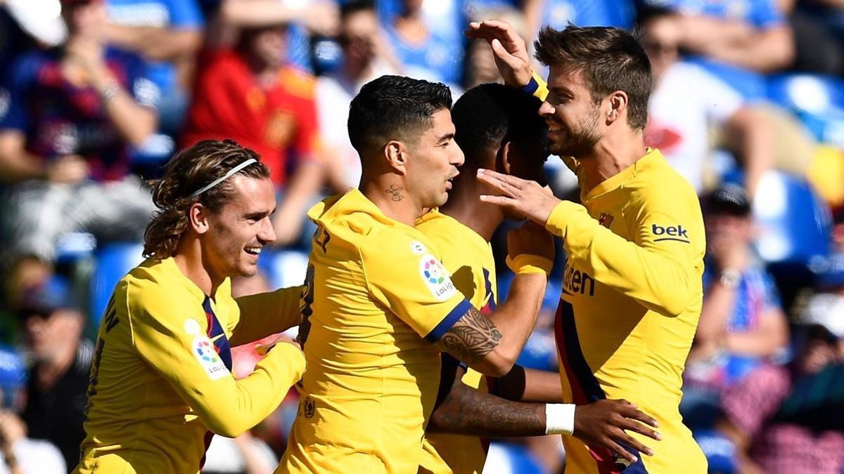
[[[722,396],[724,416],[750,441],[750,458],[764,472],[839,473],[844,469],[844,434],[776,420],[776,412],[793,391],[787,367],[762,365]]]

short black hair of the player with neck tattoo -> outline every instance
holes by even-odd
[[[381,76],[365,83],[349,105],[349,141],[363,157],[392,139],[418,137],[434,112],[451,108],[452,91],[443,83]]]

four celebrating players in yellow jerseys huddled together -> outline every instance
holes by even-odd
[[[530,66],[508,24],[470,24],[505,84],[452,107],[441,83],[384,76],[349,109],[360,186],[308,213],[304,286],[234,299],[275,240],[260,157],[231,141],[182,150],[154,182],[147,260],[117,284],[91,369],[75,472],[201,469],[214,434],[300,406],[277,472],[481,472],[490,438],[562,434],[566,471],[704,472],[679,415],[701,312],[701,209],[643,128],[647,56],[613,28],[543,30]],[[544,187],[576,173],[581,202]],[[556,159],[556,158],[552,158]],[[506,219],[515,274],[496,296]],[[555,260],[560,373],[515,361]],[[235,380],[230,347],[298,326]],[[629,401],[629,402],[628,402]],[[658,431],[658,433],[657,433]]]

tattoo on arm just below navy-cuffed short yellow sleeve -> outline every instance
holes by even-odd
[[[457,360],[472,365],[491,353],[500,341],[501,333],[495,324],[471,308],[440,338],[440,346]]]

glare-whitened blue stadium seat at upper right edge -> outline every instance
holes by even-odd
[[[768,78],[768,98],[792,110],[824,143],[844,147],[844,81],[819,74],[790,73]]]

